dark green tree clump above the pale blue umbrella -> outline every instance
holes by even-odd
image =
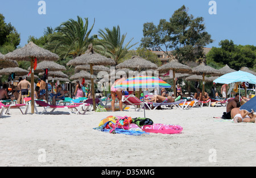
[[[232,40],[222,40],[220,48],[213,47],[207,54],[207,63],[224,67],[228,64],[236,71],[242,67],[255,68],[256,47],[253,45],[236,45]]]

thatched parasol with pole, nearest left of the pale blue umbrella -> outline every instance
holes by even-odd
[[[202,94],[204,96],[204,82],[205,82],[205,74],[210,74],[212,76],[221,75],[220,71],[205,65],[205,63],[201,63],[199,66],[192,69],[192,72],[195,74],[203,74],[203,91]]]

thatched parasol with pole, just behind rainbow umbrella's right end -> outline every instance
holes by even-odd
[[[172,59],[170,63],[164,64],[157,69],[160,73],[167,73],[172,70],[172,82],[175,85],[175,73],[190,73],[192,69],[187,65],[179,63],[176,59]],[[176,97],[176,86],[174,88],[174,97]]]

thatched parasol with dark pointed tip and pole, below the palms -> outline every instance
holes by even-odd
[[[67,65],[85,65],[90,64],[90,80],[92,84],[94,84],[93,80],[93,65],[114,65],[115,61],[113,59],[109,59],[108,57],[102,56],[97,52],[94,52],[92,44],[89,45],[88,50],[81,56],[76,57],[73,60],[70,60]],[[72,79],[71,79],[72,80]],[[92,97],[93,97],[93,110],[96,110],[96,102],[94,96],[94,85],[92,85]]]

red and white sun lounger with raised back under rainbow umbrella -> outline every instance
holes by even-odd
[[[152,104],[148,102],[143,103],[141,100],[139,100],[139,98],[135,97],[133,94],[122,96],[122,103],[123,105],[125,105],[123,109],[125,109],[127,105],[131,105],[134,106],[135,111],[136,109],[137,111],[141,110],[143,106],[147,106],[151,110],[149,104]],[[139,106],[139,108],[137,108],[137,106]]]

